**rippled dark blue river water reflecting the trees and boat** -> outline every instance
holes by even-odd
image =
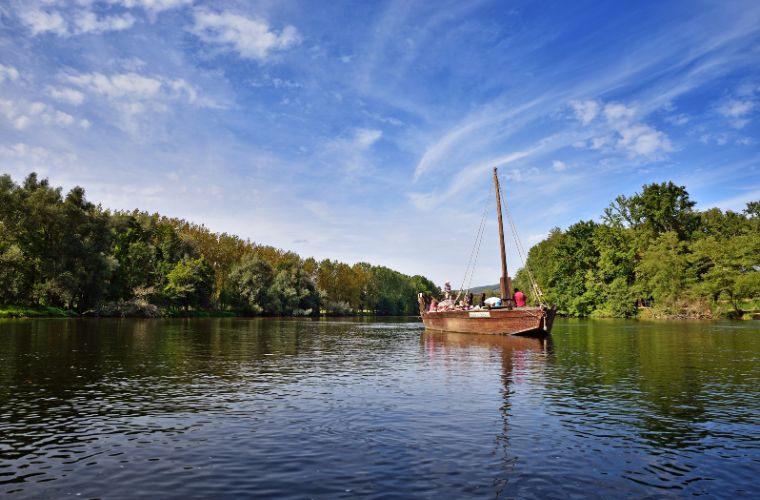
[[[8,498],[751,497],[760,322],[0,322]]]

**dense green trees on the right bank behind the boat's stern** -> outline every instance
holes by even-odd
[[[569,316],[738,317],[760,298],[760,202],[743,213],[694,205],[683,186],[645,185],[601,223],[552,230],[527,268]],[[530,289],[525,268],[515,284]]]

